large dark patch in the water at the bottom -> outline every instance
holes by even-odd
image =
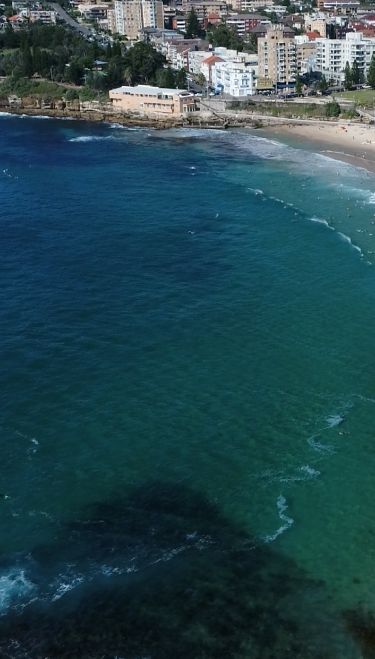
[[[1,657],[360,656],[323,584],[180,484],[91,506],[29,558],[38,597],[0,619]]]

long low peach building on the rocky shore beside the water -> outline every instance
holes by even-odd
[[[194,94],[185,89],[151,85],[123,86],[111,89],[109,98],[114,110],[146,117],[181,116],[197,109]]]

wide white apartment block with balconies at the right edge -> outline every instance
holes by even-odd
[[[362,32],[348,32],[345,39],[316,39],[315,68],[328,81],[341,84],[345,80],[345,66],[357,61],[366,76],[375,52],[375,39],[363,37]]]

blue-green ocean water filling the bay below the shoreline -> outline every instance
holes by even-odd
[[[0,656],[375,652],[375,177],[0,117]]]

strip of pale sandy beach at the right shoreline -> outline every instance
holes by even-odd
[[[351,163],[375,173],[375,126],[369,124],[323,123],[290,124],[267,128],[267,133],[312,142],[319,153]]]

